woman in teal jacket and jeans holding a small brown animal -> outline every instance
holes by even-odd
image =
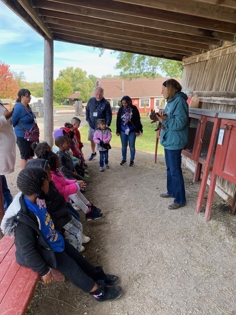
[[[165,81],[162,94],[167,99],[165,110],[160,110],[159,122],[165,127],[161,129],[161,145],[165,149],[167,167],[167,192],[161,197],[173,197],[174,202],[169,209],[178,209],[186,204],[184,181],[181,169],[181,151],[188,140],[188,104],[187,95],[181,92],[181,85],[174,79]],[[167,120],[161,116],[167,115]]]

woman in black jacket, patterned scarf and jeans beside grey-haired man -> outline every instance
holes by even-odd
[[[122,97],[121,106],[117,114],[117,135],[120,136],[122,145],[122,161],[120,165],[124,165],[126,161],[127,146],[130,148],[129,166],[134,166],[135,157],[135,140],[136,137],[143,132],[143,126],[140,120],[139,110],[132,104],[129,96]]]

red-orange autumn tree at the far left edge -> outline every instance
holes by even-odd
[[[18,81],[10,71],[10,66],[0,62],[0,98],[16,99],[18,91]]]

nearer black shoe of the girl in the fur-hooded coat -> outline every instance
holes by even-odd
[[[119,285],[106,287],[102,285],[96,291],[90,292],[98,302],[114,301],[122,294],[122,287]]]

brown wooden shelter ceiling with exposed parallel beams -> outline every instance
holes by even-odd
[[[54,40],[182,60],[236,41],[236,0],[2,0]]]

